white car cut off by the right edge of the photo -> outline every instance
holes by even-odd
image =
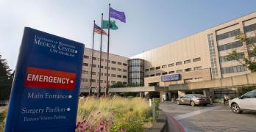
[[[238,114],[242,111],[256,111],[256,89],[229,101],[230,109]]]

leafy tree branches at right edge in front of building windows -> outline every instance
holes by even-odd
[[[256,35],[256,32],[255,32]],[[252,72],[256,72],[256,61],[255,59],[250,59],[250,56],[256,56],[256,46],[254,44],[254,40],[252,37],[246,37],[246,35],[241,32],[241,34],[235,36],[235,40],[240,40],[241,42],[245,42],[248,48],[249,59],[243,57],[241,59],[241,53],[233,50],[230,54],[227,55],[227,59],[236,60],[237,62],[245,65]]]

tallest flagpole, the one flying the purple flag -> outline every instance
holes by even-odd
[[[108,4],[108,30],[107,30],[107,87],[105,96],[108,96],[108,90],[109,90],[109,83],[108,83],[108,60],[109,60],[109,54],[110,54],[110,4]]]

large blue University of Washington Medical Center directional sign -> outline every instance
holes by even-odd
[[[74,131],[85,45],[26,27],[5,131]]]

